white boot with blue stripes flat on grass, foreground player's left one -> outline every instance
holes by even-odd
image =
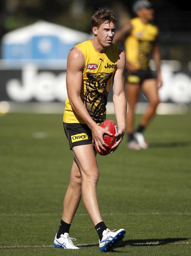
[[[56,236],[54,239],[54,247],[60,247],[64,249],[79,249],[72,242],[72,240],[76,241],[76,239],[69,237],[68,233],[61,234],[60,238],[57,238]]]

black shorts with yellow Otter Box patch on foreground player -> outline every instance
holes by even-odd
[[[63,125],[70,149],[79,145],[92,144],[92,133],[87,124],[63,122]]]

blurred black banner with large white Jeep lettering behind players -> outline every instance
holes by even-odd
[[[179,61],[162,61],[163,86],[159,89],[161,102],[191,103],[191,77],[179,71]],[[152,68],[152,63],[151,63]],[[52,102],[66,100],[66,64],[62,68],[48,68],[36,64],[25,64],[20,69],[0,69],[0,101]],[[112,102],[112,86],[108,101]],[[147,98],[140,94],[141,102]]]

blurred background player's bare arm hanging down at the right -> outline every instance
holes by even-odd
[[[155,61],[156,68],[157,68],[157,85],[158,88],[162,86],[162,75],[161,75],[161,70],[160,70],[160,49],[158,45],[158,40],[155,41],[155,45],[153,47],[153,52],[152,52],[152,57],[153,60]]]

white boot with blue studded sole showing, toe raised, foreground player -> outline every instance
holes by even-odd
[[[101,252],[107,252],[110,250],[111,246],[113,244],[116,244],[119,241],[123,240],[123,237],[125,236],[125,229],[119,229],[115,232],[114,230],[103,230],[103,237],[101,241],[99,240],[100,244],[100,251]]]

